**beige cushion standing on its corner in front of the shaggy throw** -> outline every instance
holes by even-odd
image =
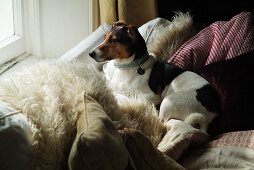
[[[85,94],[79,106],[81,115],[69,155],[70,169],[125,169],[129,153],[101,105]]]

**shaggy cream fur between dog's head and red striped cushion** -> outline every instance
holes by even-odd
[[[159,60],[168,60],[194,34],[192,16],[188,12],[176,12],[168,27],[155,30],[153,37],[156,38],[147,42],[148,52]]]

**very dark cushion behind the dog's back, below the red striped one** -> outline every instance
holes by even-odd
[[[200,70],[218,91],[221,114],[211,125],[209,133],[254,128],[254,51],[233,59],[207,65]]]

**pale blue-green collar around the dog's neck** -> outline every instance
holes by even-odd
[[[146,54],[142,56],[141,58],[137,60],[133,60],[130,63],[114,63],[114,66],[119,69],[129,69],[129,68],[134,68],[134,67],[141,67],[141,65],[146,62],[149,58],[149,55]]]

